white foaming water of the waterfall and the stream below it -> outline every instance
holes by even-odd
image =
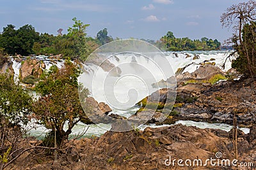
[[[175,53],[177,53],[175,55]],[[223,65],[223,62],[225,60],[225,57],[227,57],[227,55],[229,54],[229,52],[227,51],[209,51],[209,52],[165,52],[164,55],[166,55],[166,59],[170,62],[170,64],[172,65],[173,68],[173,72],[175,73],[175,71],[177,71],[178,68],[182,68],[187,66],[188,64],[191,64],[190,66],[186,67],[186,69],[184,70],[184,72],[188,71],[189,73],[192,73],[193,71],[195,71],[197,69],[197,67],[200,66],[200,62],[204,62],[205,60],[209,60],[210,59],[215,59],[212,60],[210,62],[215,62],[216,66],[221,67]],[[193,60],[194,55],[199,55],[200,59],[196,59]],[[187,55],[191,55],[191,57],[186,57]],[[143,66],[145,68],[145,70],[149,70],[150,74],[153,74],[155,81],[154,82],[150,82],[150,83],[155,83],[159,80],[166,80],[166,78],[168,77],[164,77],[163,74],[161,74],[161,70],[159,70],[159,68],[154,66],[154,63],[151,62],[150,60],[147,60],[143,57],[136,57],[134,55],[127,55],[127,56],[116,56],[118,57],[119,60],[116,60],[115,58],[110,58],[109,61],[114,64],[115,66],[118,66],[118,64],[120,63],[129,63],[132,60],[136,60],[136,63],[138,63],[140,66]],[[38,56],[36,57],[36,59],[40,59],[40,60],[44,60],[44,63],[46,65],[46,69],[49,69],[52,65],[56,65],[58,67],[63,66],[63,60],[54,60],[54,62],[50,59],[47,59],[46,56]],[[15,60],[13,60],[13,70],[15,73],[15,78],[19,78],[19,73],[20,73],[20,67],[21,67],[21,62],[17,62]],[[227,60],[227,63],[225,65],[225,69],[223,69],[223,71],[227,71],[228,69],[231,68],[231,62],[230,60]],[[106,77],[106,75],[108,75],[108,72],[104,71],[102,68],[97,67],[93,64],[86,64],[84,65],[84,69],[87,71],[87,73],[84,73],[84,76],[86,77],[86,80],[93,80],[97,83],[90,85],[88,84],[88,86],[86,86],[91,92],[93,90],[93,97],[98,101],[98,102],[104,102],[104,103],[109,103],[106,100],[106,96],[104,96],[104,82],[102,81],[102,78]],[[129,67],[128,67],[129,69]],[[221,67],[222,69],[222,67]],[[116,99],[119,99],[120,101],[124,102],[129,100],[129,95],[122,95],[125,92],[129,92],[127,91],[127,89],[136,89],[138,91],[140,91],[140,94],[137,96],[136,101],[133,101],[134,103],[132,103],[132,106],[134,106],[135,103],[137,103],[140,99],[143,99],[144,97],[150,95],[152,92],[156,91],[157,89],[154,89],[153,87],[145,87],[145,82],[147,81],[147,76],[150,75],[149,73],[143,73],[143,71],[145,70],[141,70],[140,67],[135,68],[136,71],[141,72],[141,76],[146,75],[145,78],[143,78],[143,80],[140,81],[140,79],[137,78],[122,78],[122,81],[118,81],[118,86],[115,89],[115,92],[117,92],[115,95]],[[122,70],[124,71],[124,70]],[[97,73],[96,73],[97,72]],[[96,74],[94,74],[96,73]],[[125,71],[124,71],[125,73]],[[170,74],[171,75],[171,74]],[[113,76],[112,77],[114,80],[118,80],[118,76]],[[136,83],[134,83],[136,82]],[[120,92],[120,93],[118,93]],[[121,94],[121,95],[120,95]],[[138,110],[138,107],[130,107],[126,110],[122,109],[118,109],[116,107],[111,106],[111,104],[109,104],[109,106],[112,108],[112,112],[111,113],[115,113],[118,115],[122,115],[124,117],[129,117],[131,115],[133,115],[134,113],[136,113],[136,111]],[[178,121],[176,122],[176,124],[183,124],[183,125],[194,125],[196,127],[199,128],[213,128],[213,129],[221,129],[223,131],[230,131],[230,129],[232,129],[232,126],[227,125],[227,124],[208,124],[206,122],[193,122],[193,121]],[[35,125],[35,124],[33,124]],[[100,125],[102,126],[106,126],[106,129],[109,129],[109,127],[111,127],[111,125]],[[142,125],[140,128],[143,130],[145,129],[145,127],[163,127],[163,126],[169,126],[169,125],[162,125],[162,126],[157,126],[154,124],[150,124],[150,125]],[[72,129],[72,136],[77,135],[77,134],[81,134],[83,133],[84,129],[87,129],[88,125],[84,125],[83,123],[79,122],[77,125],[75,125],[74,129]],[[29,127],[28,127],[29,128]],[[66,129],[66,127],[65,127]],[[241,128],[242,131],[244,131],[244,133],[248,133],[250,130],[246,129],[246,128]],[[36,125],[36,129],[31,129],[29,131],[29,133],[33,136],[37,136],[38,138],[42,138],[43,136],[45,136],[45,133],[49,131],[47,129],[45,129],[45,127],[40,127],[38,125]],[[88,131],[86,132],[86,134],[84,136],[86,137],[90,137],[90,136],[100,136],[102,134],[104,134],[104,132],[106,132],[105,129],[100,128],[97,125],[90,125]]]

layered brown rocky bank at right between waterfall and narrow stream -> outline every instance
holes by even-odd
[[[177,76],[177,96],[174,105],[165,102],[166,96],[170,96],[172,92],[161,89],[138,103],[142,108],[136,114],[150,112],[143,110],[142,103],[157,103],[158,110],[149,123],[159,124],[157,118],[160,117],[160,112],[163,108],[173,105],[170,116],[161,124],[173,124],[177,120],[194,120],[232,125],[236,115],[240,127],[251,127],[256,123],[256,79],[242,78],[212,84],[212,77],[216,78],[216,75],[220,74],[227,76],[229,73],[223,73],[215,66],[209,65],[202,66],[191,74],[180,74]]]

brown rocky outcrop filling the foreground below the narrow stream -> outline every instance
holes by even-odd
[[[255,162],[256,145],[248,141],[248,136],[238,131],[238,157],[243,162]],[[144,131],[106,132],[100,138],[70,140],[58,152],[57,162],[41,150],[35,150],[18,159],[10,169],[193,169],[193,166],[166,166],[168,159],[195,160],[205,162],[216,159],[216,152],[222,153],[221,159],[234,159],[234,148],[230,132],[219,129],[199,129],[185,125],[150,128]],[[28,140],[31,145],[36,141]],[[30,144],[28,144],[30,145]],[[167,160],[167,161],[166,161]],[[201,169],[201,167],[196,167]],[[214,169],[233,167],[214,166]],[[204,166],[213,169],[213,166]]]

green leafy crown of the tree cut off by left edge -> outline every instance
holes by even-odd
[[[0,118],[13,124],[27,124],[31,113],[32,98],[28,91],[15,84],[12,76],[0,74]]]

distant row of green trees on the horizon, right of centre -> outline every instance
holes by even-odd
[[[217,50],[221,43],[217,39],[202,38],[201,40],[191,40],[189,38],[175,38],[173,32],[168,31],[161,39],[161,46],[165,46],[167,51],[181,50]]]

